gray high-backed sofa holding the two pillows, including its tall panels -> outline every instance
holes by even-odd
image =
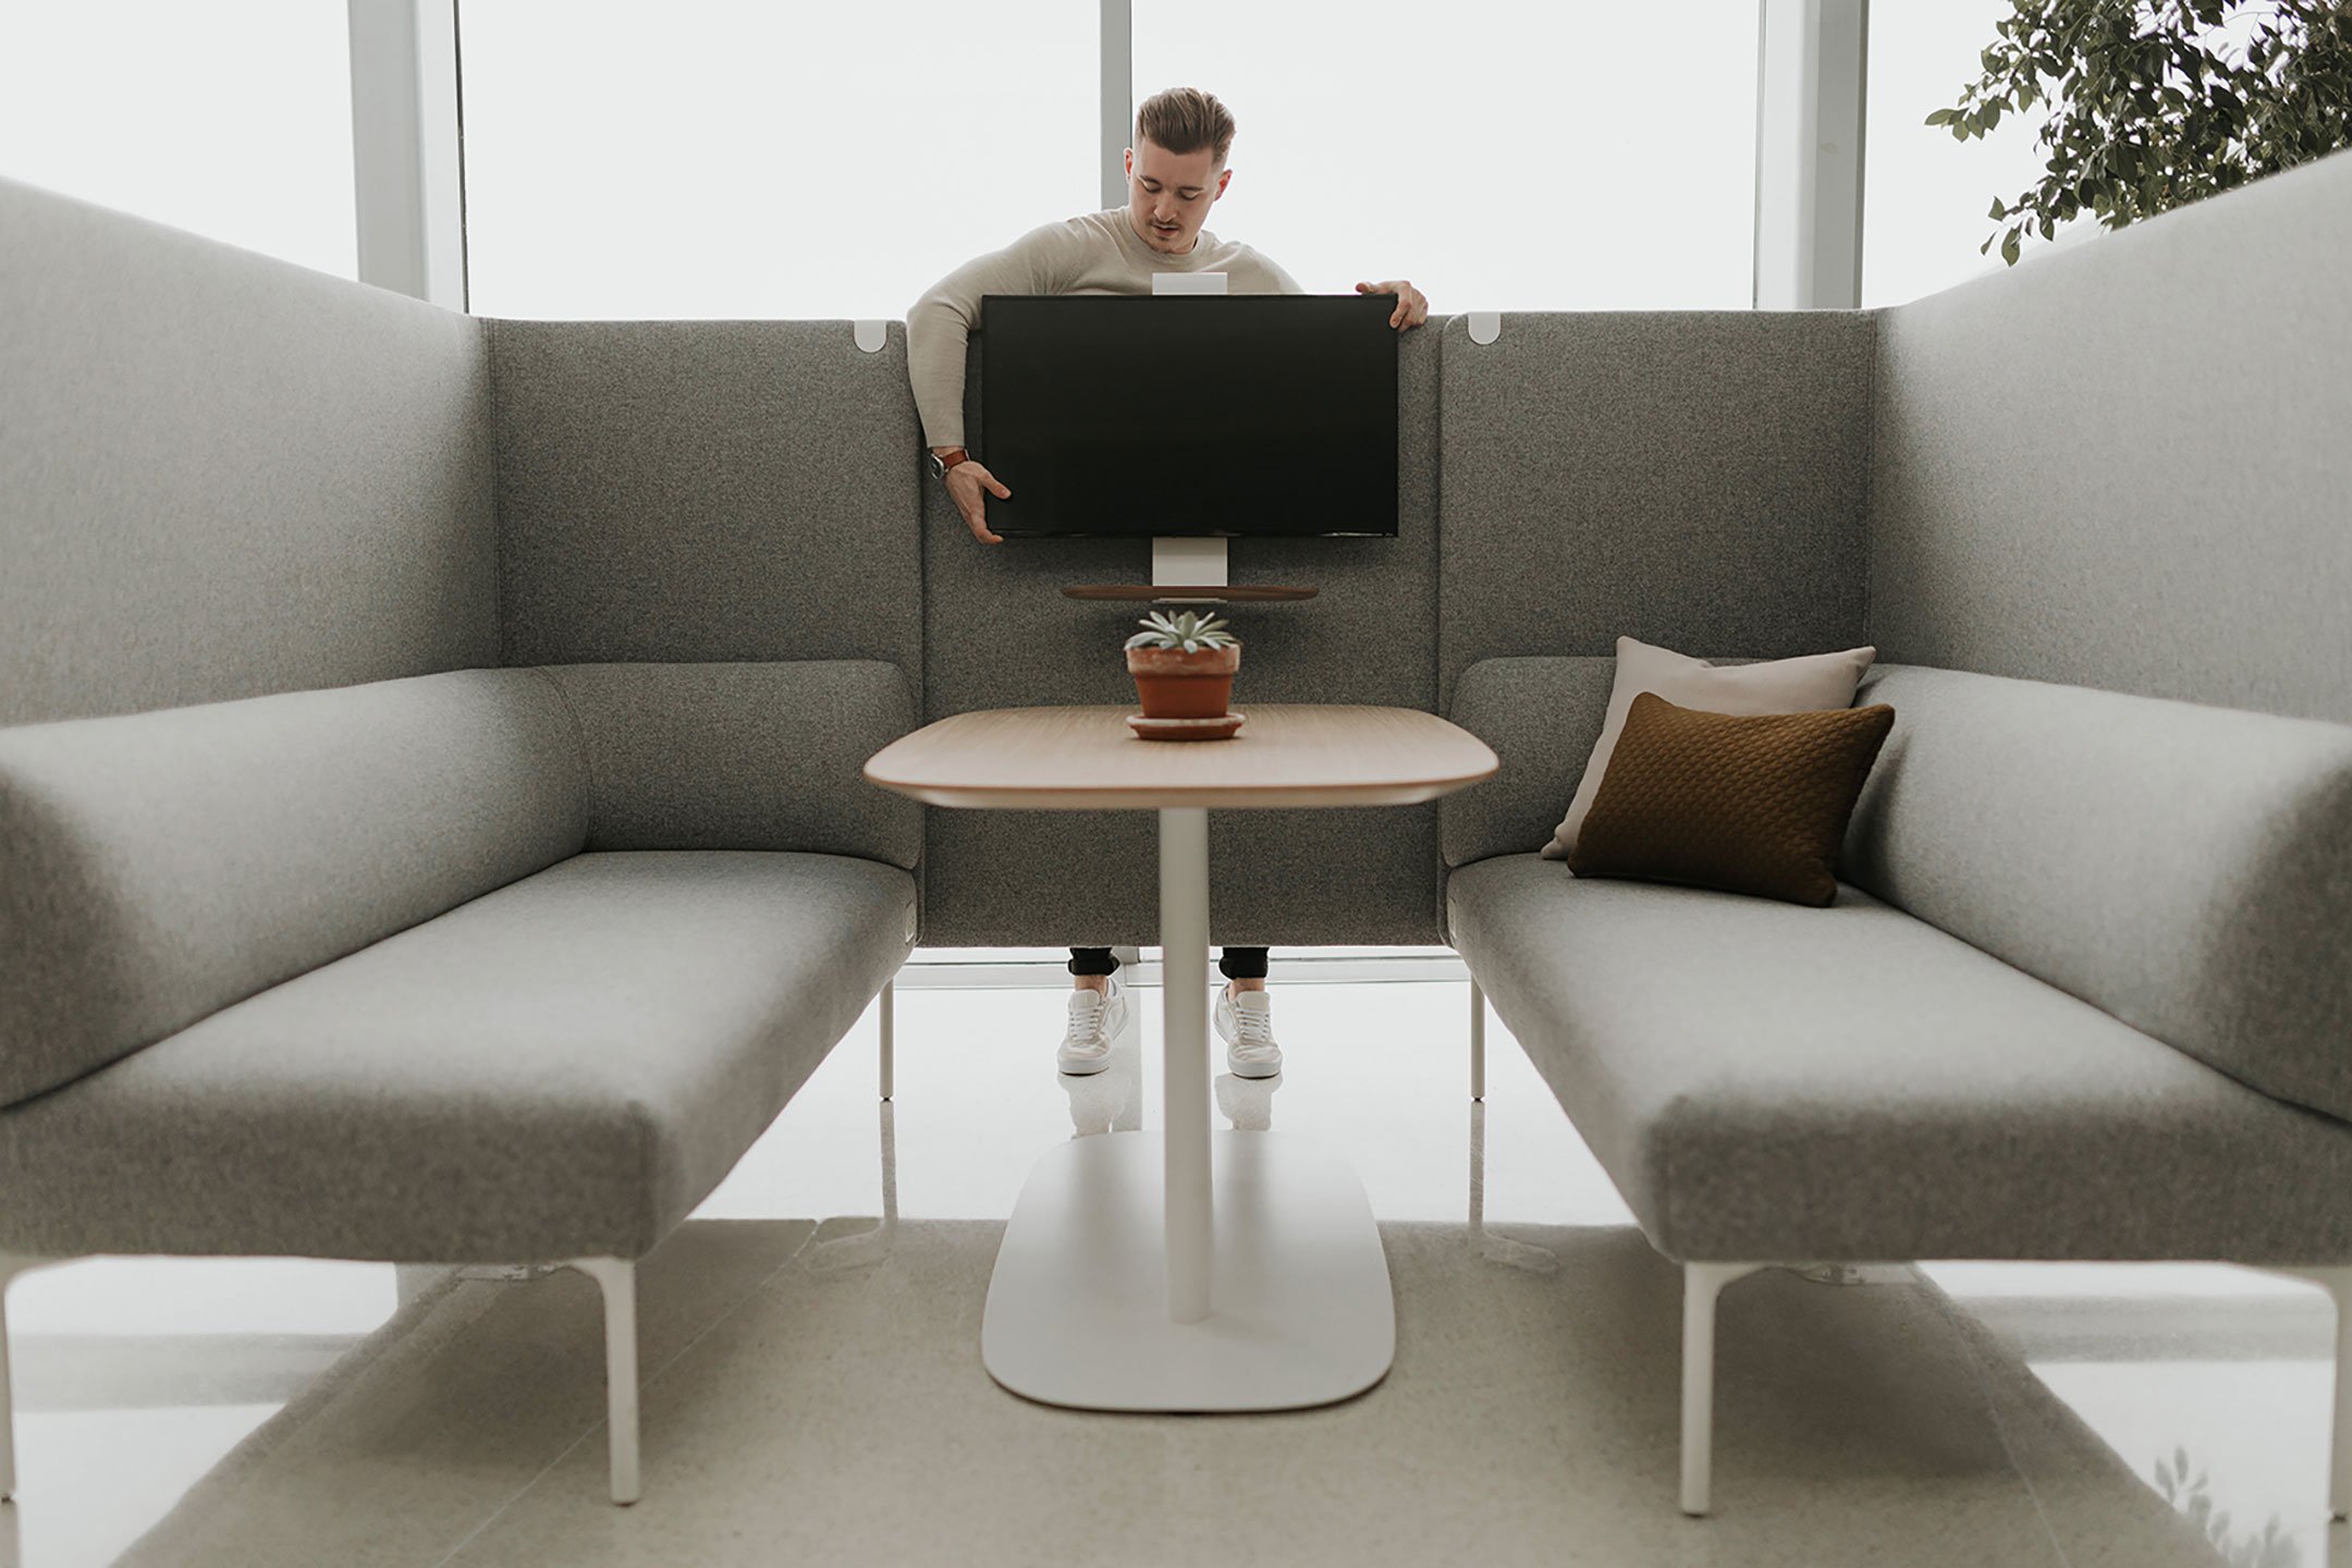
[[[1684,1267],[1686,1512],[1717,1293],[1922,1258],[2310,1276],[2352,1512],[2347,249],[2338,153],[1891,310],[1449,360],[1439,682],[1503,759],[1439,830],[1472,1081],[1484,992]],[[1616,635],[1879,646],[1832,907],[1534,853]]]

